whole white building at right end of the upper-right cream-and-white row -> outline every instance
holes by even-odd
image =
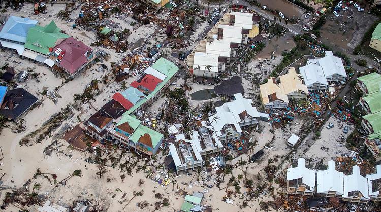
[[[332,51],[326,51],[326,56],[308,60],[307,64],[316,64],[322,67],[324,76],[328,82],[345,81],[346,72],[341,58],[335,57]]]

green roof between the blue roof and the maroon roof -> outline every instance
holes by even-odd
[[[26,36],[25,48],[46,55],[49,53],[49,48],[70,37],[60,31],[54,21],[44,27],[38,25],[31,27]]]

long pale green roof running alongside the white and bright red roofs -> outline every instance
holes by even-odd
[[[157,84],[155,90],[153,90],[145,99],[140,100],[137,102],[133,107],[131,107],[128,111],[126,111],[124,114],[130,115],[133,113],[136,109],[138,109],[141,105],[143,105],[145,102],[148,101],[148,99],[151,99],[153,96],[156,95],[163,87],[164,85],[177,73],[179,68],[173,64],[172,62],[164,59],[163,57],[159,58],[153,65],[152,68],[156,69],[158,72],[167,75],[167,77],[163,80],[163,82]]]

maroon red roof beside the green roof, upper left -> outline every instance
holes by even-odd
[[[69,37],[56,45],[52,52],[55,52],[57,48],[62,50],[60,59],[61,66],[65,68],[69,74],[74,74],[82,65],[87,63],[86,52],[92,51],[90,47],[84,43],[75,40],[73,37]]]

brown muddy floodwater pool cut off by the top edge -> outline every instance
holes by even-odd
[[[285,0],[257,0],[262,6],[266,5],[267,8],[272,10],[281,11],[286,18],[293,16],[299,18],[303,10],[294,4]]]

